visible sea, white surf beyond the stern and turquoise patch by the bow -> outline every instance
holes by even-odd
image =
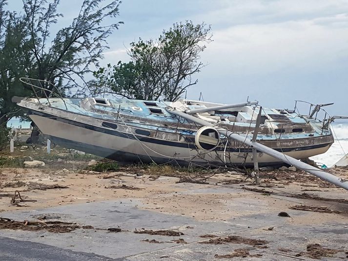
[[[29,128],[30,121],[20,121],[19,118],[12,118],[7,126],[19,128]],[[337,161],[348,153],[348,121],[339,121],[331,124],[331,129],[335,138],[335,142],[324,154],[320,154],[311,159],[315,162],[322,163],[328,167],[333,166]]]

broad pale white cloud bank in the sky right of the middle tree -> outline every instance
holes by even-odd
[[[202,58],[211,67],[267,73],[284,67],[328,66],[348,57],[348,15],[230,26],[214,31]],[[214,65],[215,64],[215,65]],[[211,68],[213,69],[213,68]]]

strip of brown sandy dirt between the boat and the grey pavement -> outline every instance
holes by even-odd
[[[42,153],[37,150],[34,153],[30,155],[42,160]],[[23,155],[25,152],[17,153],[18,157]],[[188,175],[170,167],[158,169],[153,166],[122,167],[119,171],[101,173],[88,170],[91,159],[87,156],[71,159],[67,155],[69,153],[66,152],[50,155],[43,160],[46,163],[44,167],[0,168],[0,212],[131,198],[139,201],[140,208],[184,215],[198,221],[225,221],[252,214],[255,204],[262,205],[265,213],[277,209],[287,211],[294,206],[306,209],[303,205],[311,207],[309,210],[326,207],[319,208],[326,210],[323,213],[308,211],[301,218],[288,219],[288,222],[303,224],[342,221],[348,215],[348,201],[345,201],[348,191],[302,171],[276,169],[261,172],[260,184],[255,184],[244,174],[225,172],[205,180],[207,184],[199,184],[179,181],[201,173]],[[348,179],[347,168],[329,171]],[[202,175],[208,177],[211,174]],[[190,193],[192,186],[202,192]],[[239,192],[231,193],[228,187],[238,188]],[[15,191],[20,192],[24,201],[20,201],[18,196],[13,199]],[[241,201],[250,201],[250,208],[240,210],[238,202]]]

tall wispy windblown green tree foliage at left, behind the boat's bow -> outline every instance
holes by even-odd
[[[84,95],[84,76],[90,65],[98,66],[106,38],[122,22],[120,0],[83,0],[76,18],[67,27],[51,36],[51,26],[62,17],[57,8],[60,0],[22,0],[23,12],[7,10],[7,1],[0,0],[0,124],[23,116],[13,96],[29,96],[20,77],[47,80],[58,85],[65,95]],[[109,3],[107,3],[109,2]],[[107,23],[111,21],[111,23]],[[78,83],[78,82],[82,82]],[[51,89],[52,85],[43,86]],[[1,125],[0,125],[1,126]]]

